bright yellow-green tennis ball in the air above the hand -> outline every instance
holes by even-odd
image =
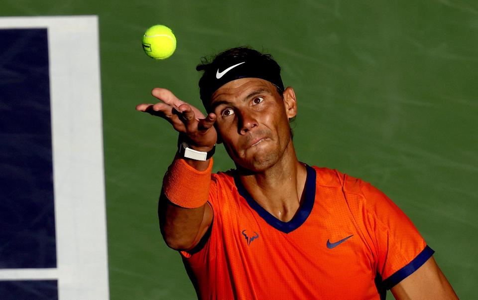
[[[176,37],[171,29],[164,25],[154,25],[143,35],[143,50],[154,59],[166,59],[176,50]]]

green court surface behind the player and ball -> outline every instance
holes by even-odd
[[[294,87],[299,158],[384,191],[436,251],[459,297],[474,299],[478,2],[2,0],[0,6],[2,16],[79,14],[100,21],[111,299],[196,297],[156,217],[176,134],[134,106],[154,101],[153,87],[200,105],[200,57],[239,45],[272,53],[284,84]],[[178,39],[165,61],[141,48],[143,31],[156,23]],[[221,147],[215,157],[215,170],[233,166]]]

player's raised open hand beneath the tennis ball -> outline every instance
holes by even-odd
[[[209,151],[217,142],[217,132],[214,128],[216,115],[206,117],[196,107],[180,100],[167,89],[155,88],[151,95],[160,100],[156,104],[139,104],[137,111],[149,113],[168,121],[173,128],[189,138],[196,150]]]

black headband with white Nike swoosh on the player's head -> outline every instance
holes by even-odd
[[[273,60],[237,58],[214,64],[199,80],[199,94],[207,104],[214,92],[226,83],[240,78],[260,78],[269,81],[280,91],[284,84],[280,77],[280,67]]]

